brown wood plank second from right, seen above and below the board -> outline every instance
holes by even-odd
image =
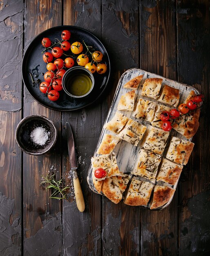
[[[141,2],[141,68],[176,80],[175,3]],[[141,255],[177,254],[177,194],[161,211],[141,210]]]

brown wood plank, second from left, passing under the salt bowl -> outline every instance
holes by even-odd
[[[25,8],[25,47],[40,32],[62,24],[60,1],[26,1]],[[57,179],[61,176],[61,113],[41,106],[31,98],[26,89],[24,97],[23,115],[38,114],[48,117],[56,125],[59,135],[55,148],[47,155],[36,157],[23,154],[24,253],[47,255],[53,250],[54,255],[59,255],[63,251],[61,215],[58,214],[61,203],[49,200],[51,192],[46,192],[45,186],[40,186],[40,182],[41,175],[47,176],[49,172],[56,173]],[[45,239],[40,241],[40,236]]]

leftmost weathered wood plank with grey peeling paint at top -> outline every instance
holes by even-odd
[[[21,255],[21,150],[15,129],[21,120],[23,2],[2,2],[0,13],[0,255]]]

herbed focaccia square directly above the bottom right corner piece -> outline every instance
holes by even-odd
[[[170,185],[175,185],[181,174],[183,166],[163,158],[157,181],[161,180]]]

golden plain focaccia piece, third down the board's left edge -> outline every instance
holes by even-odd
[[[127,118],[125,115],[120,112],[116,112],[112,120],[104,125],[104,128],[112,132],[119,133],[128,120],[129,118]]]

